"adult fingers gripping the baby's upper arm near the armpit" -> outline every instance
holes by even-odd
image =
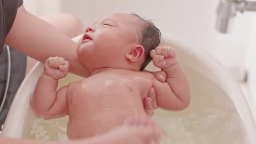
[[[158,79],[158,81],[160,81],[160,82],[165,82],[165,80],[167,78],[166,73],[164,71],[151,72],[151,71],[148,71],[145,69],[143,71],[154,75],[154,77],[156,79]],[[158,109],[156,93],[155,93],[155,89],[153,87],[149,89],[148,97],[144,99],[144,108],[145,108],[147,115],[149,115],[149,116],[154,115],[154,110]]]

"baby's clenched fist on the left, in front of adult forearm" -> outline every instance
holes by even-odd
[[[44,74],[53,77],[56,80],[64,78],[69,72],[69,62],[64,58],[50,57],[44,65]]]

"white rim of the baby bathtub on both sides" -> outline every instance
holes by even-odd
[[[206,76],[208,79],[215,82],[219,85],[224,92],[226,92],[230,99],[233,101],[233,104],[236,106],[236,110],[240,115],[240,118],[245,124],[247,135],[249,137],[249,144],[256,143],[256,124],[253,119],[253,114],[251,109],[249,108],[249,103],[246,101],[246,98],[236,81],[236,79],[232,76],[230,72],[228,72],[221,64],[218,62],[213,56],[203,51],[202,49],[194,49],[188,47],[181,43],[177,38],[171,36],[167,33],[162,33],[164,44],[172,46],[177,51],[178,59],[180,62],[185,63],[190,66],[192,69],[196,70],[200,74]],[[77,42],[78,38],[81,35],[75,37],[73,40]],[[180,55],[181,54],[181,55]],[[190,60],[190,59],[193,59]],[[194,65],[196,63],[196,65]],[[193,65],[193,66],[192,66]],[[43,64],[37,62],[36,65],[31,69],[29,74],[23,80],[20,88],[16,92],[16,96],[13,100],[13,103],[10,107],[10,111],[7,115],[6,122],[4,124],[4,128],[1,134],[8,137],[16,137],[21,138],[23,129],[25,127],[25,118],[24,116],[28,116],[30,114],[30,95],[27,95],[25,98],[20,98],[20,95],[26,94],[26,84],[30,82],[31,84],[35,84],[43,71]],[[33,85],[35,86],[35,85]],[[23,89],[24,88],[24,89]],[[31,88],[31,86],[29,87]],[[28,89],[29,91],[29,89]],[[31,91],[31,90],[30,90]],[[30,92],[31,93],[31,92]],[[240,95],[240,96],[237,96]],[[244,105],[247,104],[247,105]],[[16,121],[20,121],[19,123],[23,123],[23,125],[18,125]],[[8,129],[7,129],[8,128]]]

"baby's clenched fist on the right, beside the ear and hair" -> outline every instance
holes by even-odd
[[[167,69],[177,63],[176,52],[171,46],[158,46],[151,50],[150,56],[156,67]]]

